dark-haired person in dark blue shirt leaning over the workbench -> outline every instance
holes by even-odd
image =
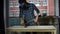
[[[26,0],[19,0],[19,8],[19,17],[20,20],[24,20],[25,27],[37,25],[37,19],[40,11],[34,4],[28,3]],[[34,15],[34,10],[36,10],[37,16]]]

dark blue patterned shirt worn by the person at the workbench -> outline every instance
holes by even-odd
[[[39,14],[39,10],[37,9],[37,7],[34,4],[29,3],[27,5],[27,9],[20,9],[20,18],[23,17],[24,20],[26,21],[30,21],[32,19],[34,19],[35,15],[34,15],[34,10],[36,10],[37,14]]]

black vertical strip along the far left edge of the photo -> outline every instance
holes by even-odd
[[[0,0],[0,34],[5,34],[5,29],[4,29],[4,16],[3,16],[3,1],[4,0]]]

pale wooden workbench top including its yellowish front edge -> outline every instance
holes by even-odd
[[[54,26],[12,26],[7,28],[8,31],[13,31],[13,32],[53,32],[56,30]]]

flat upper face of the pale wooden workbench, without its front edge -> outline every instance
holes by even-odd
[[[28,26],[25,28],[24,26],[12,26],[7,29],[55,29],[55,27],[54,26]]]

